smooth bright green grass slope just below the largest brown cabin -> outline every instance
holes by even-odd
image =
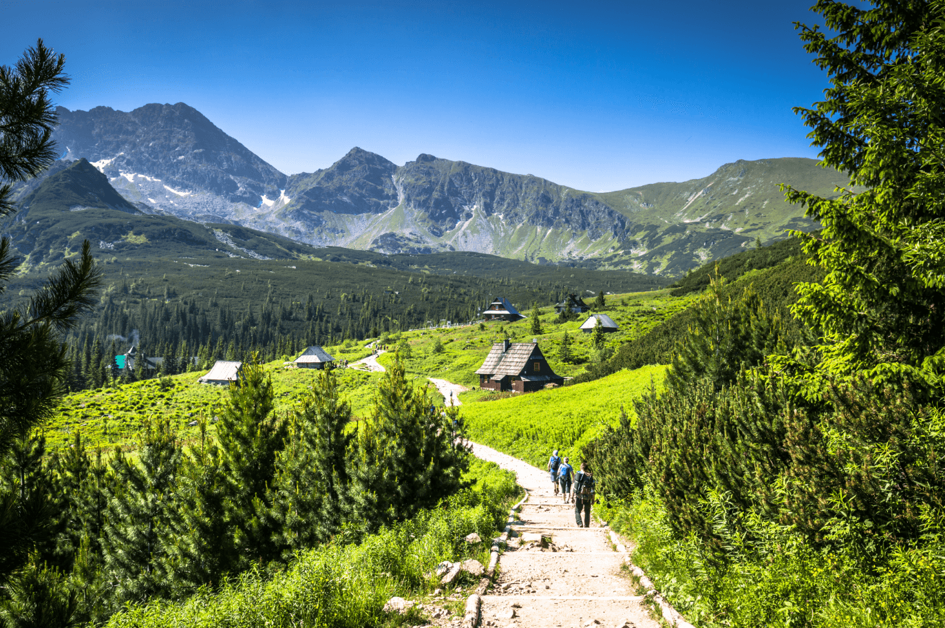
[[[645,366],[565,388],[493,399],[492,392],[463,392],[460,415],[470,438],[539,468],[552,450],[579,462],[581,447],[650,386],[662,386],[666,367]],[[500,395],[501,396],[501,395]]]

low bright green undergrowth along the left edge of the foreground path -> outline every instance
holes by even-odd
[[[110,628],[194,628],[238,624],[259,628],[360,628],[380,625],[393,595],[430,591],[438,581],[426,576],[443,560],[470,556],[485,560],[488,549],[471,547],[463,537],[482,538],[504,525],[514,477],[487,462],[475,462],[473,488],[441,507],[371,534],[356,545],[330,543],[301,552],[271,579],[259,570],[232,579],[219,591],[202,589],[182,602],[131,606],[109,621]]]

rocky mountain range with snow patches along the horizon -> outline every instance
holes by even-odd
[[[362,148],[287,176],[184,103],[58,113],[60,163],[50,172],[85,159],[139,212],[376,253],[466,251],[679,275],[785,229],[816,229],[778,183],[827,197],[846,183],[815,160],[781,158],[593,193],[428,154],[398,166]],[[22,186],[20,199],[38,184]]]

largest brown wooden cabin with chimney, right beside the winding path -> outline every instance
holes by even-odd
[[[476,374],[480,388],[495,392],[535,392],[564,383],[564,377],[551,370],[537,341],[496,342]]]

